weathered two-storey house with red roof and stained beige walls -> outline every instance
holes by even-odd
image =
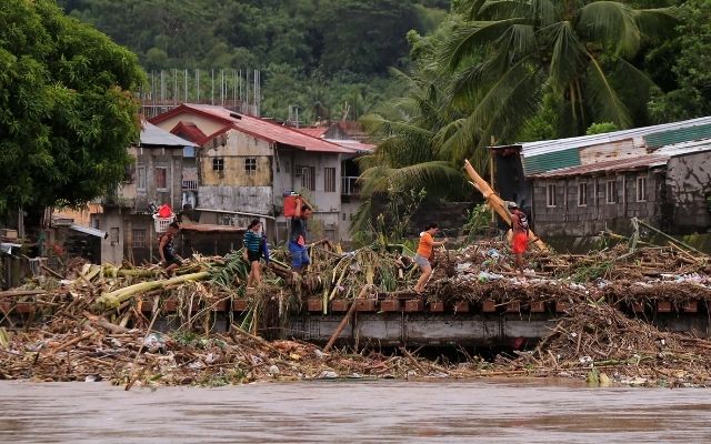
[[[201,222],[244,226],[260,219],[270,240],[283,241],[283,195],[294,191],[316,206],[311,236],[341,238],[341,162],[356,150],[214,105],[183,103],[151,122],[200,147]]]

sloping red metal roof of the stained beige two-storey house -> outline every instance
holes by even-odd
[[[154,117],[153,119],[151,119],[151,122],[160,123],[161,121],[182,112],[199,113],[201,115],[210,117],[213,120],[224,123],[224,128],[213,134],[210,134],[207,140],[211,140],[216,135],[219,135],[230,129],[234,129],[271,143],[281,143],[304,151],[332,153],[353,152],[352,150],[337,145],[336,143],[313,138],[289,127],[283,127],[264,119],[256,118],[248,114],[240,114],[222,107],[209,104],[183,103],[180,107],[177,107],[163,114]]]

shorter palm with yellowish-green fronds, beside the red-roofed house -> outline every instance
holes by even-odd
[[[394,201],[412,190],[425,189],[430,198],[461,195],[467,190],[461,171],[463,158],[453,159],[440,150],[441,142],[452,132],[451,122],[463,115],[448,107],[445,79],[439,71],[429,63],[421,64],[411,75],[393,71],[408,85],[408,94],[380,104],[360,119],[378,147],[359,160],[363,204],[351,223],[351,232],[368,230],[375,195]]]

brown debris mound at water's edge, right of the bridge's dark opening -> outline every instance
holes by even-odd
[[[613,306],[589,303],[571,307],[533,351],[502,365],[592,383],[708,386],[710,351],[709,340],[662,332]]]

